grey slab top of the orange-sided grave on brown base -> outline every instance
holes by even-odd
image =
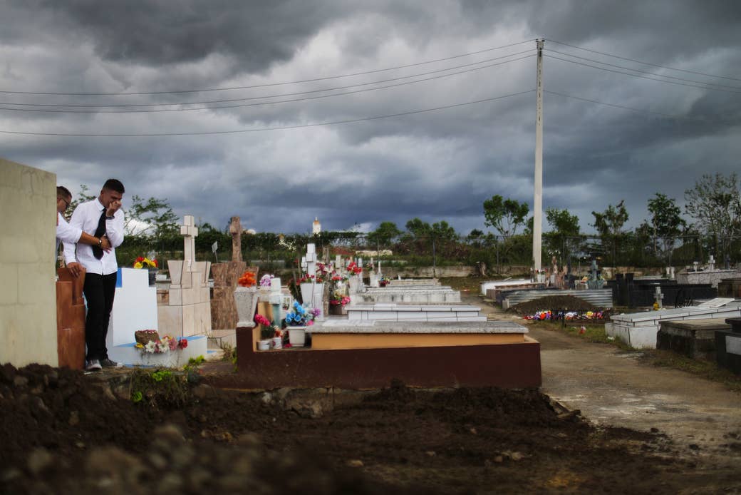
[[[528,333],[511,321],[436,323],[425,321],[386,322],[369,320],[326,320],[306,329],[310,333]]]

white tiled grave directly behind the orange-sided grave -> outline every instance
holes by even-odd
[[[486,321],[476,306],[432,304],[352,304],[347,306],[348,321]]]

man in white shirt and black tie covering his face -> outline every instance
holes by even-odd
[[[124,185],[120,180],[108,179],[96,199],[81,203],[75,209],[70,227],[82,229],[93,237],[107,237],[110,251],[102,246],[87,244],[64,245],[64,259],[73,276],[80,273],[79,266],[86,270],[82,292],[87,301],[85,318],[85,344],[87,344],[87,370],[116,367],[108,358],[105,337],[108,332],[113,296],[116,295],[116,248],[124,241],[124,212],[121,199]]]

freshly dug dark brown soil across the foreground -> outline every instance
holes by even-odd
[[[676,493],[708,483],[662,434],[594,427],[538,390],[248,393],[180,380],[182,394],[152,387],[135,403],[132,374],[2,366],[0,492]]]

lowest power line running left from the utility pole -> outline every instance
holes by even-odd
[[[376,115],[373,117],[360,117],[358,119],[345,119],[335,120],[332,122],[317,122],[315,124],[301,124],[301,125],[283,125],[279,127],[266,127],[257,129],[238,129],[234,131],[205,131],[205,132],[162,132],[155,134],[65,134],[65,133],[53,133],[53,132],[23,132],[23,131],[0,131],[0,134],[18,134],[22,136],[57,136],[57,137],[170,137],[170,136],[206,136],[214,134],[242,134],[247,132],[265,132],[265,131],[286,131],[290,129],[320,127],[323,125],[340,125],[340,124],[351,124],[353,122],[364,122],[368,120],[378,119],[390,119],[393,117],[403,117],[405,115],[423,114],[425,112],[447,110],[448,108],[457,108],[466,105],[476,105],[477,103],[493,102],[497,99],[510,98],[512,96],[519,96],[522,94],[533,93],[535,90],[531,89],[528,91],[519,91],[519,93],[504,94],[502,96],[493,96],[491,98],[477,99],[472,102],[454,103],[453,105],[444,105],[436,108],[424,108],[422,110],[413,110],[407,112],[399,112],[397,114],[387,115]]]

